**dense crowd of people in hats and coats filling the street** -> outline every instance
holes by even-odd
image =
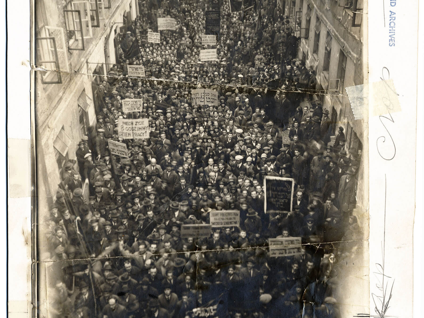
[[[279,3],[244,13],[224,3],[218,59],[201,62],[205,9],[139,2],[120,37],[97,123],[61,169],[48,215],[42,260],[62,260],[48,267],[51,317],[340,317],[333,263],[354,248],[338,242],[360,237],[361,150],[312,98],[315,72],[296,58]],[[177,28],[153,44],[157,17]],[[146,77],[128,76],[128,64]],[[193,105],[196,88],[218,92],[218,106]],[[124,113],[128,98],[142,99],[142,112]],[[119,118],[148,118],[150,137],[120,138]],[[264,210],[266,176],[294,179],[293,211]],[[209,224],[214,210],[240,211],[240,226],[181,238],[181,226]],[[301,237],[301,253],[271,257],[268,238],[284,237]]]

